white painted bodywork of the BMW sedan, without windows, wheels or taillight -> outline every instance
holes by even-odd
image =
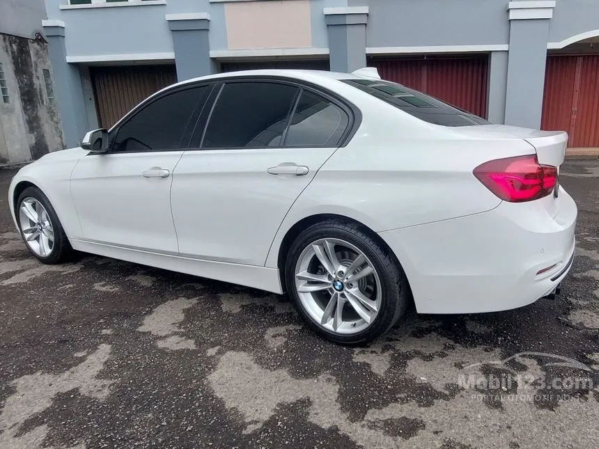
[[[15,187],[31,182],[54,205],[75,249],[281,293],[279,251],[288,231],[315,214],[347,216],[394,251],[423,313],[524,306],[566,276],[577,216],[572,198],[560,189],[557,198],[506,203],[472,173],[490,159],[535,153],[541,164],[559,167],[566,133],[432,125],[339,81],[355,75],[252,74],[310,81],[345,97],[361,111],[356,134],[339,149],[189,150],[147,158],[54,152],[15,175],[13,217]],[[309,173],[266,172],[283,163]],[[141,176],[154,166],[171,176]]]

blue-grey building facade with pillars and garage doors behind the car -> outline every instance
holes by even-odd
[[[599,147],[596,0],[45,0],[68,145],[176,80],[251,68],[397,81]]]

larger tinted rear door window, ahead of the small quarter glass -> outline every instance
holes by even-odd
[[[225,84],[217,98],[203,148],[280,146],[298,88],[287,84]]]

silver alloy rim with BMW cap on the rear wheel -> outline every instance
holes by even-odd
[[[381,283],[372,262],[341,239],[312,242],[295,265],[295,288],[304,310],[329,332],[364,331],[378,315]]]

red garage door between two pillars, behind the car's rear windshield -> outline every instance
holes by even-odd
[[[488,55],[371,59],[383,79],[487,116]]]

